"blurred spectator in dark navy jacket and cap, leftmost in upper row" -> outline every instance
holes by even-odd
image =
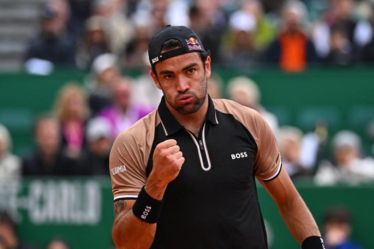
[[[46,6],[41,14],[41,31],[27,45],[26,69],[35,67],[29,59],[48,61],[56,66],[75,65],[75,40],[66,31],[66,23],[53,8]],[[41,69],[39,69],[41,70]]]

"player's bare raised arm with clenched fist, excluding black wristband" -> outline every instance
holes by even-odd
[[[168,183],[174,180],[185,158],[177,141],[166,140],[158,144],[153,155],[153,170],[145,185],[145,191],[156,200],[162,200]],[[113,241],[120,249],[150,248],[155,238],[156,223],[138,219],[132,211],[135,200],[118,200],[114,203]]]

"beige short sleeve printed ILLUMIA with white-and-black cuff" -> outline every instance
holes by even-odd
[[[109,159],[109,173],[114,200],[136,199],[146,184],[145,153],[130,131],[121,133],[114,141]]]

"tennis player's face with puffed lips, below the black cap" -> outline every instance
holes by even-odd
[[[150,74],[164,93],[166,103],[181,114],[197,112],[207,96],[210,57],[201,62],[198,53],[187,53],[156,64]]]

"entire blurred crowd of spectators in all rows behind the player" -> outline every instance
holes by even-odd
[[[66,66],[88,73],[83,83],[64,84],[53,106],[35,118],[33,151],[13,154],[9,127],[0,124],[0,185],[22,176],[109,175],[115,137],[156,109],[162,97],[148,73],[147,51],[150,38],[167,24],[189,26],[213,63],[223,66],[250,70],[271,63],[299,72],[311,64],[374,62],[373,0],[49,0],[28,43],[25,70],[47,75]],[[143,74],[125,77],[123,68]],[[374,146],[364,151],[354,131],[329,137],[318,122],[306,133],[280,126],[261,105],[257,83],[245,76],[224,83],[213,74],[208,92],[212,98],[227,93],[263,116],[291,178],[318,185],[374,182]],[[374,120],[368,127],[374,141]],[[349,214],[338,210],[325,218],[329,248],[346,243]],[[0,214],[2,248],[27,248],[19,245],[6,214]],[[56,238],[46,248],[69,246]]]

